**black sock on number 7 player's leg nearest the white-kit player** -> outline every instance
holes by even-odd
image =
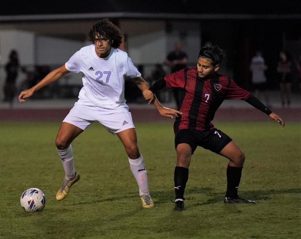
[[[187,180],[188,180],[188,168],[175,167],[174,181],[175,181],[176,199],[185,200],[184,191],[185,191]]]

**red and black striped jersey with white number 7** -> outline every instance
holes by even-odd
[[[182,88],[179,111],[183,114],[176,118],[174,131],[180,129],[213,129],[211,121],[222,102],[230,99],[246,100],[250,92],[238,87],[224,75],[215,73],[212,79],[202,80],[197,68],[185,68],[166,75],[167,88]]]

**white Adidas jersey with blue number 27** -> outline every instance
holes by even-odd
[[[95,45],[83,47],[66,62],[65,67],[70,72],[82,72],[83,87],[77,103],[108,109],[127,107],[124,78],[141,76],[128,54],[113,47],[106,58],[96,55]]]

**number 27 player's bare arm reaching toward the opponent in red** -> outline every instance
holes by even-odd
[[[150,88],[149,84],[142,77],[133,78],[133,81],[136,83],[136,85],[142,91],[142,94],[145,97],[145,99],[150,100],[149,104],[151,102],[154,102],[154,106],[156,107],[156,109],[159,111],[159,113],[162,116],[172,119],[173,118],[172,115],[175,115],[176,117],[178,117],[178,114],[182,114],[182,112],[180,112],[180,111],[163,107],[161,105],[161,103],[158,101],[155,94],[149,90],[149,88]],[[148,96],[146,97],[145,95],[148,95]]]

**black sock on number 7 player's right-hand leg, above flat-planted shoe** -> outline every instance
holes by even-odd
[[[227,168],[227,192],[225,197],[235,198],[238,196],[237,190],[240,183],[242,167]]]

